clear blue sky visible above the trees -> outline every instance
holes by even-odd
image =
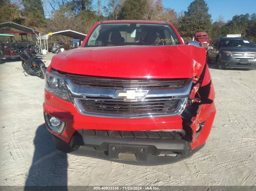
[[[102,0],[101,0],[102,1]],[[193,0],[162,0],[165,7],[174,9],[176,12],[187,11],[188,6]],[[93,0],[96,7],[98,0]],[[102,3],[108,2],[103,0]],[[256,13],[256,0],[205,0],[209,7],[211,19],[216,21],[219,15],[224,17],[225,21],[231,20],[236,14]]]

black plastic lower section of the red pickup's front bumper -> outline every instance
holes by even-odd
[[[52,135],[55,145],[62,140]],[[88,135],[81,135],[76,132],[70,142],[71,153],[79,156],[89,156],[109,161],[121,162],[137,165],[160,165],[178,162],[191,157],[196,151],[201,149],[204,144],[196,149],[190,148],[190,143],[184,140],[175,141],[152,141],[152,140],[127,140],[96,138]],[[125,158],[120,158],[122,155]],[[134,157],[134,158],[132,158]]]

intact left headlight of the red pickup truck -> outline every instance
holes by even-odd
[[[45,74],[45,89],[51,94],[70,102],[67,91],[65,89],[64,81],[61,76],[57,76],[46,72]]]

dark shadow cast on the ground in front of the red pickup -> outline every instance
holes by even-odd
[[[34,145],[33,162],[24,190],[32,190],[33,186],[61,186],[61,190],[68,190],[67,154],[55,148],[51,133],[45,124],[38,126]]]

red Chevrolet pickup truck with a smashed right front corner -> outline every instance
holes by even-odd
[[[205,49],[185,45],[171,23],[101,21],[52,57],[43,109],[62,151],[166,164],[204,145],[214,94]]]

